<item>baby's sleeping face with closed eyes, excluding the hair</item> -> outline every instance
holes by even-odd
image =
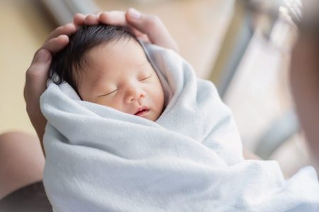
[[[155,121],[164,107],[164,92],[136,40],[96,47],[85,56],[78,91],[82,100],[113,107]]]

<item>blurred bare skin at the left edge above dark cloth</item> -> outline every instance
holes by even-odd
[[[43,177],[45,158],[36,136],[19,132],[0,135],[0,199]]]

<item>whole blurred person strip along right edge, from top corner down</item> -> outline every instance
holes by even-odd
[[[291,57],[291,90],[296,112],[308,143],[313,165],[319,172],[319,7],[303,1],[299,37]]]

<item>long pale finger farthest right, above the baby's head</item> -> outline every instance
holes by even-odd
[[[129,8],[125,17],[130,25],[137,28],[141,33],[147,34],[150,42],[178,52],[177,43],[169,35],[162,20],[157,16],[142,14],[134,8]]]

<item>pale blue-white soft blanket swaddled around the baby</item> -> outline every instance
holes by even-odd
[[[166,98],[156,122],[84,102],[67,83],[41,97],[55,211],[319,210],[313,168],[285,180],[274,161],[243,160],[213,84],[174,52],[145,49]]]

